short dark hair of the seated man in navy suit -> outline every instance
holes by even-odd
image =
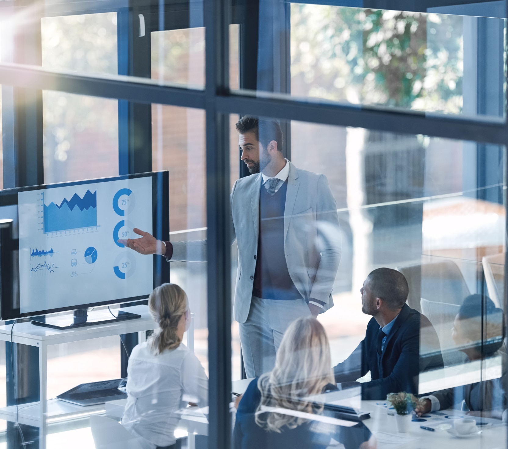
[[[377,268],[367,277],[369,288],[376,298],[383,299],[390,310],[398,310],[405,304],[409,287],[404,275],[391,268]]]

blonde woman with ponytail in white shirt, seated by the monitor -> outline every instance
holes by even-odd
[[[129,358],[122,425],[143,449],[176,449],[178,417],[174,412],[189,401],[207,405],[208,378],[198,358],[182,343],[190,310],[181,287],[156,287],[148,307],[159,328]]]

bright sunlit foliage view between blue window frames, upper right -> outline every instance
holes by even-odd
[[[462,112],[461,16],[292,4],[291,19],[294,95]]]

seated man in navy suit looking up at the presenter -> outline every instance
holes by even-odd
[[[372,271],[360,292],[362,312],[372,319],[356,350],[335,366],[335,381],[353,382],[370,371],[371,381],[362,384],[364,400],[386,400],[388,393],[402,391],[418,394],[420,372],[443,367],[436,331],[406,304],[409,288],[399,271]],[[421,329],[426,357],[420,357]]]

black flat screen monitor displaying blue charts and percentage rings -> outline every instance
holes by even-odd
[[[168,172],[0,191],[2,320],[138,301],[169,264],[125,248],[169,235]]]

